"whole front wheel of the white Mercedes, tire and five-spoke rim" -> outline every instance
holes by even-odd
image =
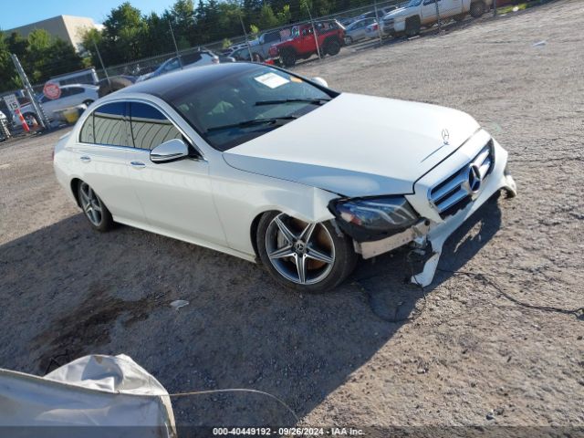
[[[256,243],[276,281],[303,292],[339,286],[357,263],[351,239],[329,222],[306,223],[279,212],[262,216]]]

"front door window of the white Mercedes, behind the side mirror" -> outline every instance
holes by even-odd
[[[164,141],[183,137],[161,111],[145,103],[130,103],[131,136],[134,146],[152,150]]]

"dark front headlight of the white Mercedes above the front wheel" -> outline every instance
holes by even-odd
[[[328,209],[339,227],[358,242],[400,233],[420,219],[403,196],[336,199]]]

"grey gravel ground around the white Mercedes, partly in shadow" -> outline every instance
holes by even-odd
[[[125,226],[94,233],[52,173],[64,131],[1,143],[0,365],[44,374],[51,359],[123,352],[171,392],[268,391],[311,425],[583,426],[584,318],[504,295],[583,304],[583,26],[580,1],[556,2],[297,67],[467,111],[510,152],[519,196],[485,204],[441,263],[487,279],[441,272],[425,300],[400,252],[302,296],[228,255]],[[182,424],[295,423],[254,394],[174,408]]]

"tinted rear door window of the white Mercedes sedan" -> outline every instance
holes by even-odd
[[[125,102],[108,103],[93,112],[95,142],[111,146],[130,146],[126,136]]]

